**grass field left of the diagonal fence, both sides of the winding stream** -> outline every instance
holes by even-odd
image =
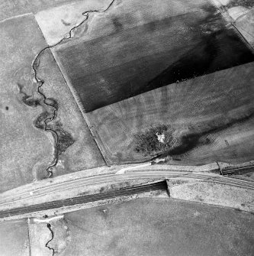
[[[47,46],[34,15],[2,21],[0,31],[0,192],[3,192],[48,176],[56,138],[44,131],[44,118],[50,109],[37,93],[38,85],[31,70],[34,57]],[[44,80],[41,92],[57,105],[55,122],[50,124],[59,136],[61,153],[54,174],[104,165],[50,50],[40,57],[39,67],[37,75]]]

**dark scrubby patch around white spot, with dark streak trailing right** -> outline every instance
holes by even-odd
[[[212,133],[223,131],[233,125],[248,121],[254,116],[254,112],[246,113],[241,117],[231,118],[225,122],[211,122],[204,131],[195,131],[194,128],[185,128],[184,132],[175,132],[176,128],[169,125],[156,125],[143,133],[134,135],[135,151],[150,157],[179,156],[204,144],[211,144],[207,138]],[[210,127],[210,128],[209,128]],[[179,128],[179,131],[181,128]],[[164,143],[158,140],[158,134],[165,135]]]

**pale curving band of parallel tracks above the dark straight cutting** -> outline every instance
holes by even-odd
[[[27,199],[37,199],[40,196],[50,195],[65,190],[75,190],[80,186],[101,185],[107,183],[121,183],[127,180],[198,180],[212,183],[222,183],[230,186],[238,186],[244,189],[254,190],[254,182],[247,180],[239,180],[230,177],[224,177],[212,173],[195,173],[186,171],[169,171],[169,170],[133,170],[130,173],[113,173],[101,174],[93,177],[82,177],[77,180],[69,180],[63,183],[51,184],[43,186],[24,193],[14,194],[10,196],[0,196],[0,206],[10,203],[25,201]]]

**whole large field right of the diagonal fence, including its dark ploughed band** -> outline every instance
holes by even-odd
[[[108,164],[253,159],[254,54],[226,16],[116,1],[53,49]]]

